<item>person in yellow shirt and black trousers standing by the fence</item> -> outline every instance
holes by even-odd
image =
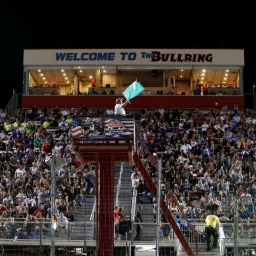
[[[210,214],[205,219],[205,236],[206,236],[206,251],[210,251],[211,236],[213,236],[213,248],[217,247],[218,231],[216,225],[220,225],[219,218],[214,214],[214,211],[210,211]]]

